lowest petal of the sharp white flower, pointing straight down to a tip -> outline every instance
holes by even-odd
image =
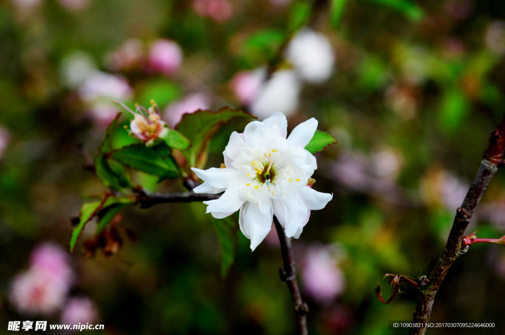
[[[242,214],[243,225],[246,232],[250,235],[251,250],[254,250],[270,232],[274,211],[271,210],[267,214],[262,214],[260,206],[251,202],[246,207],[247,210]]]

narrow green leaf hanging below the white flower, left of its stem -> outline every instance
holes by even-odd
[[[238,223],[235,215],[224,219],[214,219],[214,227],[219,239],[219,261],[221,277],[225,278],[235,262],[238,244]]]

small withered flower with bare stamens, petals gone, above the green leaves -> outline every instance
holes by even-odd
[[[122,102],[114,102],[133,114],[133,119],[130,122],[130,135],[145,142],[145,145],[152,145],[158,137],[165,137],[168,134],[168,129],[165,127],[166,123],[160,119],[160,109],[154,100],[151,100],[152,106],[149,109],[137,105],[135,111],[132,111]]]

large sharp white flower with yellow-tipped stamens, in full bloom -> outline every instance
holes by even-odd
[[[225,191],[217,200],[204,201],[207,213],[222,219],[240,211],[240,230],[251,240],[252,250],[269,233],[274,215],[287,237],[298,238],[310,210],[321,210],[333,197],[306,186],[317,164],[304,148],[317,125],[311,118],[286,139],[286,117],[275,112],[263,122],[247,124],[243,134],[231,134],[223,152],[226,169],[191,168],[205,181],[196,193]]]

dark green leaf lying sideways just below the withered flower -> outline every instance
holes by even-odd
[[[130,145],[113,151],[110,157],[134,170],[158,176],[160,181],[179,177],[179,166],[164,142],[153,147]]]

